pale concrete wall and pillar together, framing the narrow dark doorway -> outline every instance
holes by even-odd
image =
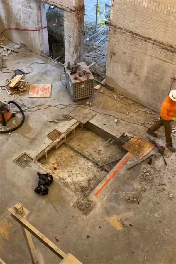
[[[46,25],[45,4],[64,10],[65,61],[83,61],[84,0],[0,0],[0,32],[5,28],[39,29]],[[35,53],[48,55],[47,29],[8,30],[3,35]]]

